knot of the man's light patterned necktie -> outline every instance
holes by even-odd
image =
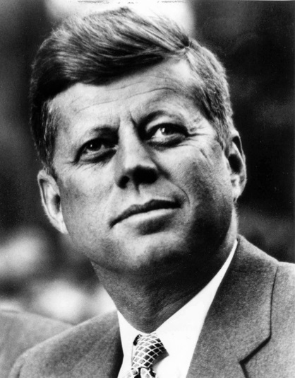
[[[164,353],[165,348],[156,333],[136,338],[136,350],[133,356],[132,367],[145,367],[149,369],[157,357]]]

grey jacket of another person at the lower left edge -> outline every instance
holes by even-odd
[[[17,358],[70,325],[18,311],[0,311],[0,378],[7,378]]]

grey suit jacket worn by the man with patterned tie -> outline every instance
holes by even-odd
[[[294,287],[291,264],[239,238],[187,377],[295,377]],[[121,361],[118,320],[109,314],[25,353],[10,377],[116,378]]]

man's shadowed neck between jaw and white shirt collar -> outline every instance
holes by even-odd
[[[122,274],[93,266],[128,323],[138,331],[150,333],[212,280],[229,256],[234,240],[235,237],[224,240],[224,245],[202,269],[186,264],[181,268],[178,265],[168,273],[167,270],[163,273],[163,269],[157,272],[154,268],[150,275],[133,275],[132,272]]]

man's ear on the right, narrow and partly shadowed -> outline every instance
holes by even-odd
[[[243,193],[246,185],[246,161],[241,145],[239,132],[233,130],[231,139],[226,149],[226,156],[231,171],[231,186],[233,190],[234,202]]]

